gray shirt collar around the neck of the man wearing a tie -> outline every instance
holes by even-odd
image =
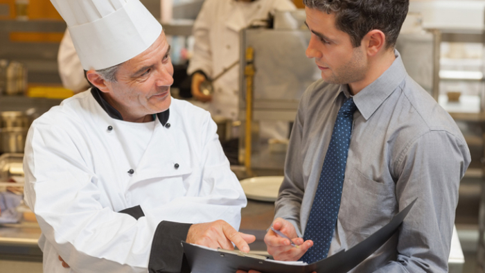
[[[366,121],[397,89],[407,75],[403,60],[396,49],[394,49],[394,55],[396,55],[396,60],[391,64],[391,67],[382,73],[377,80],[374,80],[357,95],[353,96],[353,102],[357,105],[360,114]],[[344,92],[346,97],[350,97],[348,85],[341,85],[340,90]]]

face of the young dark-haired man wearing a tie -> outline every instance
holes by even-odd
[[[326,82],[343,85],[364,80],[367,71],[362,47],[354,48],[349,34],[335,26],[335,14],[305,8],[306,24],[312,32],[306,49],[308,58],[315,58]]]

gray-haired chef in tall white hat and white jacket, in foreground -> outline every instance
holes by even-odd
[[[159,22],[139,0],[51,1],[93,87],[28,133],[44,272],[186,272],[182,240],[248,252],[245,195],[209,112],[170,97]]]

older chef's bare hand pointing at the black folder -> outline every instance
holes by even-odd
[[[247,253],[249,252],[249,245],[247,244],[253,243],[254,240],[256,240],[254,235],[238,232],[227,222],[217,220],[215,222],[193,224],[188,229],[186,242],[213,249],[220,247],[231,250],[234,249],[232,245],[234,243],[240,251]]]

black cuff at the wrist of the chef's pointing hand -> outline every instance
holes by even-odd
[[[159,223],[153,236],[148,272],[190,272],[181,242],[186,240],[191,225],[168,221]]]

